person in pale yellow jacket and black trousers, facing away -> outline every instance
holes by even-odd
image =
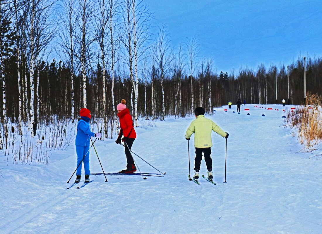
[[[213,146],[211,140],[211,131],[216,132],[224,138],[228,138],[229,134],[224,132],[212,120],[204,117],[205,110],[203,107],[197,107],[194,110],[196,119],[191,122],[185,133],[185,139],[190,140],[191,135],[194,133],[194,147],[196,148],[196,157],[194,159],[194,179],[199,178],[200,164],[202,160],[202,153],[204,152],[204,160],[206,161],[207,174],[209,179],[213,179],[212,173],[212,159],[211,147]]]

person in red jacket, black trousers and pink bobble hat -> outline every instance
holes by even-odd
[[[124,136],[122,141],[125,145],[125,155],[128,165],[126,166],[126,169],[120,171],[119,173],[133,173],[137,171],[137,168],[135,167],[134,160],[129,149],[132,148],[133,142],[137,138],[137,134],[134,130],[132,116],[130,115],[130,111],[128,108],[126,108],[125,104],[126,101],[122,99],[121,103],[119,103],[116,107],[118,110],[121,130],[118,134],[118,139],[115,142],[117,144],[121,144],[122,135]]]

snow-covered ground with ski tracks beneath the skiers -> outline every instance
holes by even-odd
[[[103,175],[92,175],[92,183],[67,190],[74,147],[52,151],[48,165],[7,164],[1,156],[0,233],[321,233],[321,147],[303,152],[281,118],[283,107],[261,106],[242,106],[240,114],[236,106],[227,112],[224,106],[208,116],[230,134],[223,183],[226,140],[213,133],[217,185],[188,180],[184,135],[194,116],[136,129],[132,150],[166,172],[164,177],[112,175],[105,183]],[[105,172],[125,168],[124,148],[115,139],[96,141],[95,147]],[[158,173],[134,159],[142,172]],[[102,172],[93,148],[90,169]],[[201,174],[206,174],[204,160]]]

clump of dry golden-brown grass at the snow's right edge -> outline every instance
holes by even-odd
[[[322,140],[321,96],[307,95],[306,105],[299,106],[293,112],[286,113],[287,122],[291,127],[298,128],[298,140],[309,147]]]

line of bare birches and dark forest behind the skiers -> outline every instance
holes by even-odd
[[[305,69],[307,91],[321,90],[321,58],[307,58],[305,69],[299,57],[288,68],[259,64],[218,74],[211,59],[200,58],[197,38],[172,48],[166,26],[151,33],[151,19],[142,0],[1,3],[1,140],[8,121],[17,123],[20,135],[27,124],[33,136],[39,122],[52,115],[74,120],[82,107],[108,137],[108,126],[117,129],[115,110],[123,98],[136,125],[138,116],[163,120],[197,106],[211,113],[229,100],[272,104],[276,80],[279,102],[289,97],[290,104],[301,104]]]

